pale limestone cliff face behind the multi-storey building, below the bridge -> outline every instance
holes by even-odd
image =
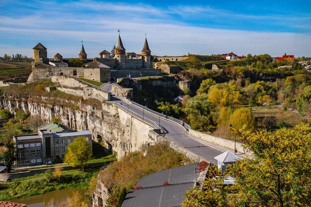
[[[11,112],[14,109],[29,110],[31,116],[39,116],[48,122],[52,117],[61,118],[62,123],[74,130],[89,130],[94,141],[102,141],[107,149],[116,151],[122,157],[130,151],[139,150],[143,143],[150,141],[149,125],[132,117],[109,102],[94,107],[72,100],[54,100],[52,98],[4,97],[1,108]]]

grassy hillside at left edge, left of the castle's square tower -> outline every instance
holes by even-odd
[[[28,77],[31,73],[31,63],[0,62],[0,80],[14,77]]]

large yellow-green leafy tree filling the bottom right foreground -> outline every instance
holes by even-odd
[[[233,186],[207,179],[203,191],[193,188],[183,207],[305,207],[311,204],[311,127],[249,133],[242,139],[254,155],[227,168],[235,178]],[[215,170],[212,169],[215,172]],[[217,175],[217,174],[215,174]],[[213,185],[216,183],[215,185]]]

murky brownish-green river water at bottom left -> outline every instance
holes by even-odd
[[[55,207],[57,207],[60,202],[66,200],[67,197],[73,196],[73,192],[76,191],[78,191],[81,195],[84,195],[84,193],[86,192],[85,189],[66,188],[62,190],[51,191],[43,195],[29,196],[10,201],[18,204],[26,204],[27,207],[51,207],[49,206],[49,202],[51,201],[51,199],[54,199]]]

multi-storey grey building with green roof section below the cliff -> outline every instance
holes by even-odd
[[[63,162],[68,145],[78,137],[85,137],[92,147],[89,131],[74,131],[69,127],[50,122],[38,128],[38,134],[14,136],[16,167]]]

